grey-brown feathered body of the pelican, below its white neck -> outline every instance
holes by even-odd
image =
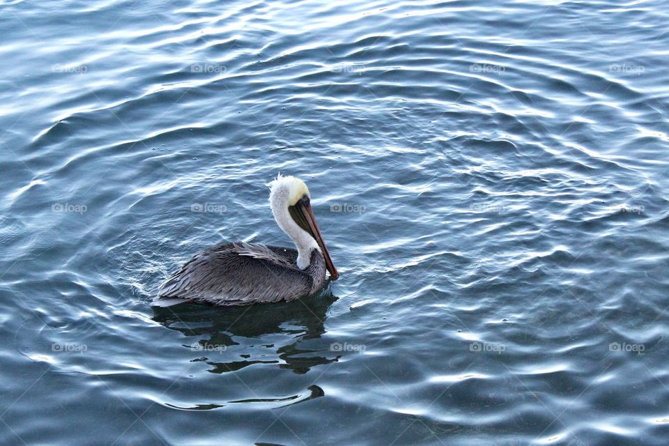
[[[307,295],[313,279],[298,268],[297,251],[258,243],[225,243],[196,254],[160,287],[155,305],[277,302]]]

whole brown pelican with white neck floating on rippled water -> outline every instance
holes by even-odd
[[[310,199],[304,181],[279,174],[270,183],[270,206],[297,249],[244,242],[208,247],[160,286],[154,305],[279,302],[318,291],[325,283],[325,268],[337,279]]]

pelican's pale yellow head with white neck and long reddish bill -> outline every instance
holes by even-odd
[[[312,196],[304,181],[294,176],[279,174],[270,183],[270,205],[272,214],[279,227],[288,235],[298,248],[298,268],[305,269],[311,261],[313,249],[318,249],[325,259],[325,267],[332,279],[339,273],[334,268],[330,252],[325,245],[312,211]]]

